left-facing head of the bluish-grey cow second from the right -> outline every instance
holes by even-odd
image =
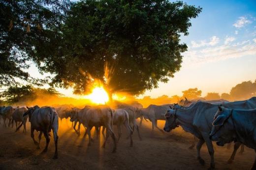
[[[166,132],[171,131],[172,129],[175,129],[178,127],[176,122],[176,112],[177,110],[169,109],[166,111],[164,117],[165,117],[165,124],[163,130]]]

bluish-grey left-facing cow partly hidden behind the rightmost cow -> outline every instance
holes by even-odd
[[[245,101],[240,102],[229,102],[224,103],[225,107],[230,108],[244,108],[250,109],[255,103],[256,108],[256,97],[252,97]],[[166,119],[164,130],[169,132],[170,130],[181,125],[182,128],[195,135],[199,138],[197,143],[197,159],[200,164],[204,165],[204,160],[200,156],[200,149],[204,142],[207,145],[210,157],[211,157],[211,168],[215,167],[214,163],[214,149],[212,141],[209,139],[209,131],[212,128],[212,122],[214,115],[218,109],[218,105],[211,104],[208,102],[198,101],[191,108],[184,110],[172,110],[169,109],[166,111],[164,117]]]

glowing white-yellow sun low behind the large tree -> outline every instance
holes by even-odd
[[[85,96],[96,104],[105,104],[108,102],[108,94],[103,87],[96,87],[90,95]]]

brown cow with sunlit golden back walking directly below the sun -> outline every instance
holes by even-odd
[[[104,141],[102,147],[105,148],[107,139],[110,135],[114,142],[114,148],[113,148],[112,152],[113,153],[116,152],[117,139],[116,139],[116,135],[113,131],[114,115],[113,115],[112,109],[110,109],[106,105],[99,105],[99,106],[95,106],[95,107],[90,107],[88,109],[82,109],[79,113],[81,115],[81,118],[79,118],[79,119],[80,119],[81,123],[86,127],[85,135],[88,134],[88,136],[89,136],[88,146],[91,146],[91,142],[92,142],[91,129],[93,128],[93,126],[95,126],[96,129],[100,126],[105,126],[106,127],[106,138],[105,138],[105,141]]]

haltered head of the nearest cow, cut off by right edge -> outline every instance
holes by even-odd
[[[218,146],[230,143],[235,139],[235,131],[233,122],[230,118],[231,110],[219,106],[218,111],[214,116],[213,127],[210,132],[210,139],[217,141]]]

